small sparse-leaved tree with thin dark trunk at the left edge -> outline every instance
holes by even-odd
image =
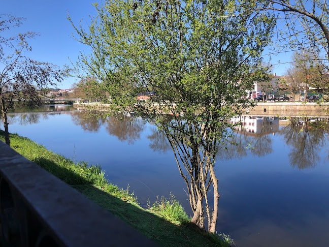
[[[46,62],[33,60],[25,55],[31,51],[27,40],[37,36],[34,32],[8,37],[8,30],[20,26],[24,18],[0,15],[0,105],[5,127],[5,140],[10,145],[7,112],[14,100],[37,102],[39,90],[53,80],[60,82],[67,75],[67,68],[60,69]]]

